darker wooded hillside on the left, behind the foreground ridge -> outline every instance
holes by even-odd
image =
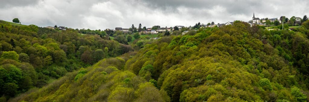
[[[78,29],[60,31],[0,21],[1,99],[41,88],[67,72],[132,50],[128,45],[104,39],[104,35],[78,32]]]

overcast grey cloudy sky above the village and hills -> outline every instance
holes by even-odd
[[[309,15],[308,0],[0,0],[0,19],[78,29],[193,26]]]

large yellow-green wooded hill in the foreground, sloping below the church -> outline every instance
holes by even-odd
[[[184,36],[135,39],[130,44],[134,51],[109,51],[110,57],[92,66],[63,73],[8,101],[306,102],[308,37],[309,21],[295,31],[268,31],[235,21]]]

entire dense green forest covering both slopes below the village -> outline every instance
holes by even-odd
[[[235,21],[130,45],[0,24],[2,100],[309,101],[309,21],[294,31]]]

